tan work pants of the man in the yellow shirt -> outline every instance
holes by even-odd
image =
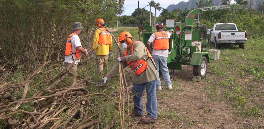
[[[107,55],[96,55],[96,64],[97,64],[97,72],[98,74],[103,72],[103,68],[106,68],[108,65],[108,54]]]

